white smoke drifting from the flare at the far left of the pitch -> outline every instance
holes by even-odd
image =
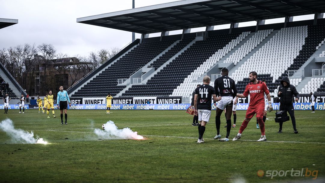
[[[12,120],[6,119],[1,121],[0,123],[0,130],[5,131],[7,135],[11,137],[12,143],[21,143],[21,144],[47,144],[43,140],[43,138],[35,139],[34,133],[31,133],[21,130],[15,129]]]

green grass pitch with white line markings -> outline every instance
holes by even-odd
[[[3,111],[3,110],[2,110]],[[33,131],[50,144],[12,144],[0,131],[0,182],[322,182],[325,171],[325,111],[295,111],[298,134],[291,121],[266,120],[266,142],[256,142],[261,132],[253,118],[238,141],[213,139],[215,111],[197,144],[198,128],[185,111],[69,110],[68,125],[46,118],[38,110],[9,110],[0,120],[13,120],[16,129]],[[237,111],[239,130],[246,111]],[[52,116],[50,111],[50,116]],[[145,140],[101,140],[94,133],[108,120],[119,129],[129,127]],[[232,117],[233,120],[233,117]],[[226,134],[222,118],[221,135]],[[251,141],[247,141],[251,140]],[[273,142],[274,141],[274,142]],[[266,171],[318,171],[314,176],[266,176]],[[264,176],[257,175],[263,170]],[[305,172],[303,172],[305,175]]]

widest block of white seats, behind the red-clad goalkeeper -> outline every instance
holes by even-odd
[[[244,91],[249,82],[247,76],[253,70],[258,73],[259,79],[266,79],[270,92],[274,92],[280,84],[279,81],[275,82],[275,78],[280,77],[283,70],[293,63],[293,59],[305,44],[306,37],[307,26],[282,28],[235,73],[232,73],[232,77],[239,84],[239,92]]]

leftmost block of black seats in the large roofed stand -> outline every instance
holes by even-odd
[[[143,67],[176,40],[146,42],[137,45],[118,61],[110,65],[84,87],[72,94],[72,97],[97,97],[110,93],[115,96],[126,85],[118,85],[118,79],[128,79],[138,68]]]

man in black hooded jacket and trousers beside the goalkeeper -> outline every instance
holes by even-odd
[[[292,96],[294,95],[296,97],[295,101],[298,102],[299,93],[297,92],[296,87],[290,84],[290,80],[288,77],[282,77],[280,83],[281,86],[279,86],[278,92],[278,97],[280,97],[279,110],[288,111],[292,121],[293,133],[298,134],[298,131],[296,129],[296,119],[294,117]],[[280,128],[278,133],[282,133],[282,124],[283,122],[279,122]]]

